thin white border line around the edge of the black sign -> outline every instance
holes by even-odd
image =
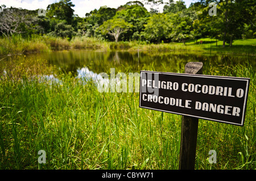
[[[214,78],[214,79],[230,79],[230,80],[240,80],[240,81],[246,81],[246,90],[245,90],[245,101],[243,103],[243,115],[242,115],[242,120],[241,120],[241,124],[237,124],[237,123],[232,123],[229,121],[223,121],[223,120],[217,120],[217,119],[211,119],[208,117],[200,117],[200,116],[194,116],[194,115],[188,115],[188,114],[184,114],[184,113],[178,113],[178,112],[173,112],[173,111],[164,111],[164,110],[159,110],[156,108],[150,108],[150,107],[146,107],[146,106],[141,106],[141,78],[142,78],[142,73],[152,73],[152,74],[168,74],[168,75],[176,75],[176,76],[184,76],[184,77],[200,77],[200,78]],[[170,72],[163,72],[163,71],[148,71],[148,70],[141,70],[140,72],[140,77],[139,77],[139,107],[141,108],[146,108],[148,110],[155,110],[155,111],[162,111],[162,112],[167,112],[167,113],[174,113],[176,115],[181,115],[181,116],[191,116],[191,117],[196,117],[199,119],[204,119],[204,120],[210,120],[210,121],[216,121],[219,123],[226,123],[226,124],[232,124],[232,125],[239,125],[239,126],[243,126],[244,121],[245,121],[245,113],[246,113],[246,107],[247,107],[247,99],[248,99],[248,93],[249,93],[249,88],[250,88],[250,78],[244,78],[244,77],[225,77],[225,76],[218,76],[218,75],[201,75],[201,74],[184,74],[184,73],[170,73]]]

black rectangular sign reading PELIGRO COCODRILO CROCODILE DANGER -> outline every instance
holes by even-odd
[[[139,107],[243,126],[249,78],[141,71]]]

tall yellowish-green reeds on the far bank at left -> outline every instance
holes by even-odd
[[[73,37],[69,40],[61,37],[32,35],[24,39],[22,36],[14,35],[9,38],[0,38],[0,56],[68,49],[108,49],[108,45],[93,37]]]

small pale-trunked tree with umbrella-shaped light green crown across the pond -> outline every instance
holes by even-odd
[[[118,41],[119,36],[128,31],[131,27],[131,24],[125,22],[125,20],[121,18],[109,19],[104,22],[99,28],[101,30],[102,35],[112,35],[114,36],[115,42]]]

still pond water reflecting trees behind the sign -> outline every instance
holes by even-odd
[[[63,72],[72,72],[77,76],[89,73],[110,73],[110,68],[115,68],[115,73],[135,73],[140,70],[179,72],[189,61],[204,63],[204,70],[211,66],[251,64],[255,67],[255,56],[234,56],[232,54],[204,54],[180,52],[104,52],[97,50],[68,50],[59,52],[46,52],[31,54],[28,58],[43,58],[49,64],[56,65]]]

